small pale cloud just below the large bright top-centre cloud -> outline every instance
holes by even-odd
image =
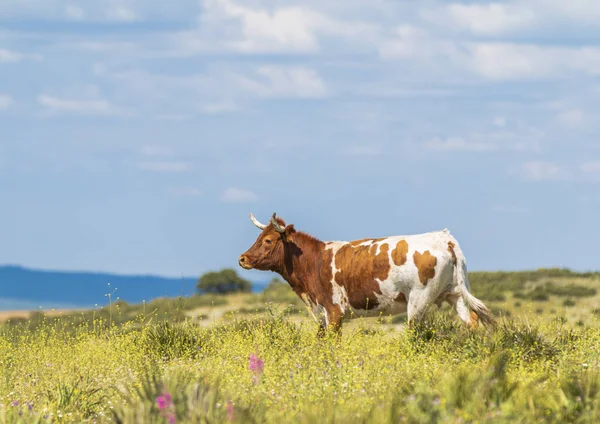
[[[240,86],[261,97],[324,97],[325,83],[313,69],[302,67],[263,66],[256,78],[238,77]],[[264,81],[266,79],[266,81]]]

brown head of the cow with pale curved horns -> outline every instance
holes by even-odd
[[[238,263],[244,269],[260,271],[280,269],[283,266],[286,246],[294,242],[293,237],[296,232],[294,225],[286,226],[285,222],[275,214],[268,225],[258,222],[252,214],[250,219],[262,232],[250,249],[239,257]]]

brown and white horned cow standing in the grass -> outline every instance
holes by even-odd
[[[447,301],[469,325],[492,324],[489,309],[471,293],[467,265],[456,239],[442,231],[321,241],[271,217],[239,257],[244,269],[281,275],[320,324],[338,330],[342,318],[407,312],[412,324],[433,304]]]

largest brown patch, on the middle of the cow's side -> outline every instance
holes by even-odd
[[[354,309],[373,309],[379,305],[376,294],[382,294],[377,280],[385,280],[390,272],[389,246],[353,246],[348,243],[335,254],[335,282],[346,289]]]

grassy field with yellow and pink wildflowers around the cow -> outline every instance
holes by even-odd
[[[600,275],[469,278],[495,328],[434,307],[320,339],[285,285],[20,316],[0,326],[0,422],[600,422]]]

